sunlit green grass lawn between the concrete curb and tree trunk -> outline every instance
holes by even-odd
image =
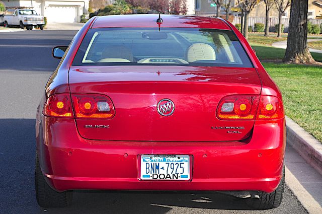
[[[285,113],[322,142],[322,68],[263,63],[282,91]]]

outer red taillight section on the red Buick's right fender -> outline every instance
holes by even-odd
[[[274,96],[261,96],[256,119],[280,119],[284,117],[282,101]]]

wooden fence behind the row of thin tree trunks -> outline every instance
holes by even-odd
[[[241,17],[234,16],[232,24],[240,24]],[[314,25],[321,25],[322,19],[308,19]],[[250,17],[248,26],[254,27],[255,23],[262,23],[265,25],[265,17]],[[282,24],[284,25],[284,32],[288,32],[289,18],[282,18]],[[278,18],[269,18],[270,31],[275,31],[275,25],[278,24]]]

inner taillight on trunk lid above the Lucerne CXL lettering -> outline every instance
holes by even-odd
[[[223,120],[255,119],[259,96],[233,95],[224,97],[218,105],[217,117]]]

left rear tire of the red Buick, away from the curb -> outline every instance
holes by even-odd
[[[65,207],[71,204],[73,191],[57,192],[47,184],[40,169],[37,153],[35,167],[35,186],[36,198],[39,206]]]

